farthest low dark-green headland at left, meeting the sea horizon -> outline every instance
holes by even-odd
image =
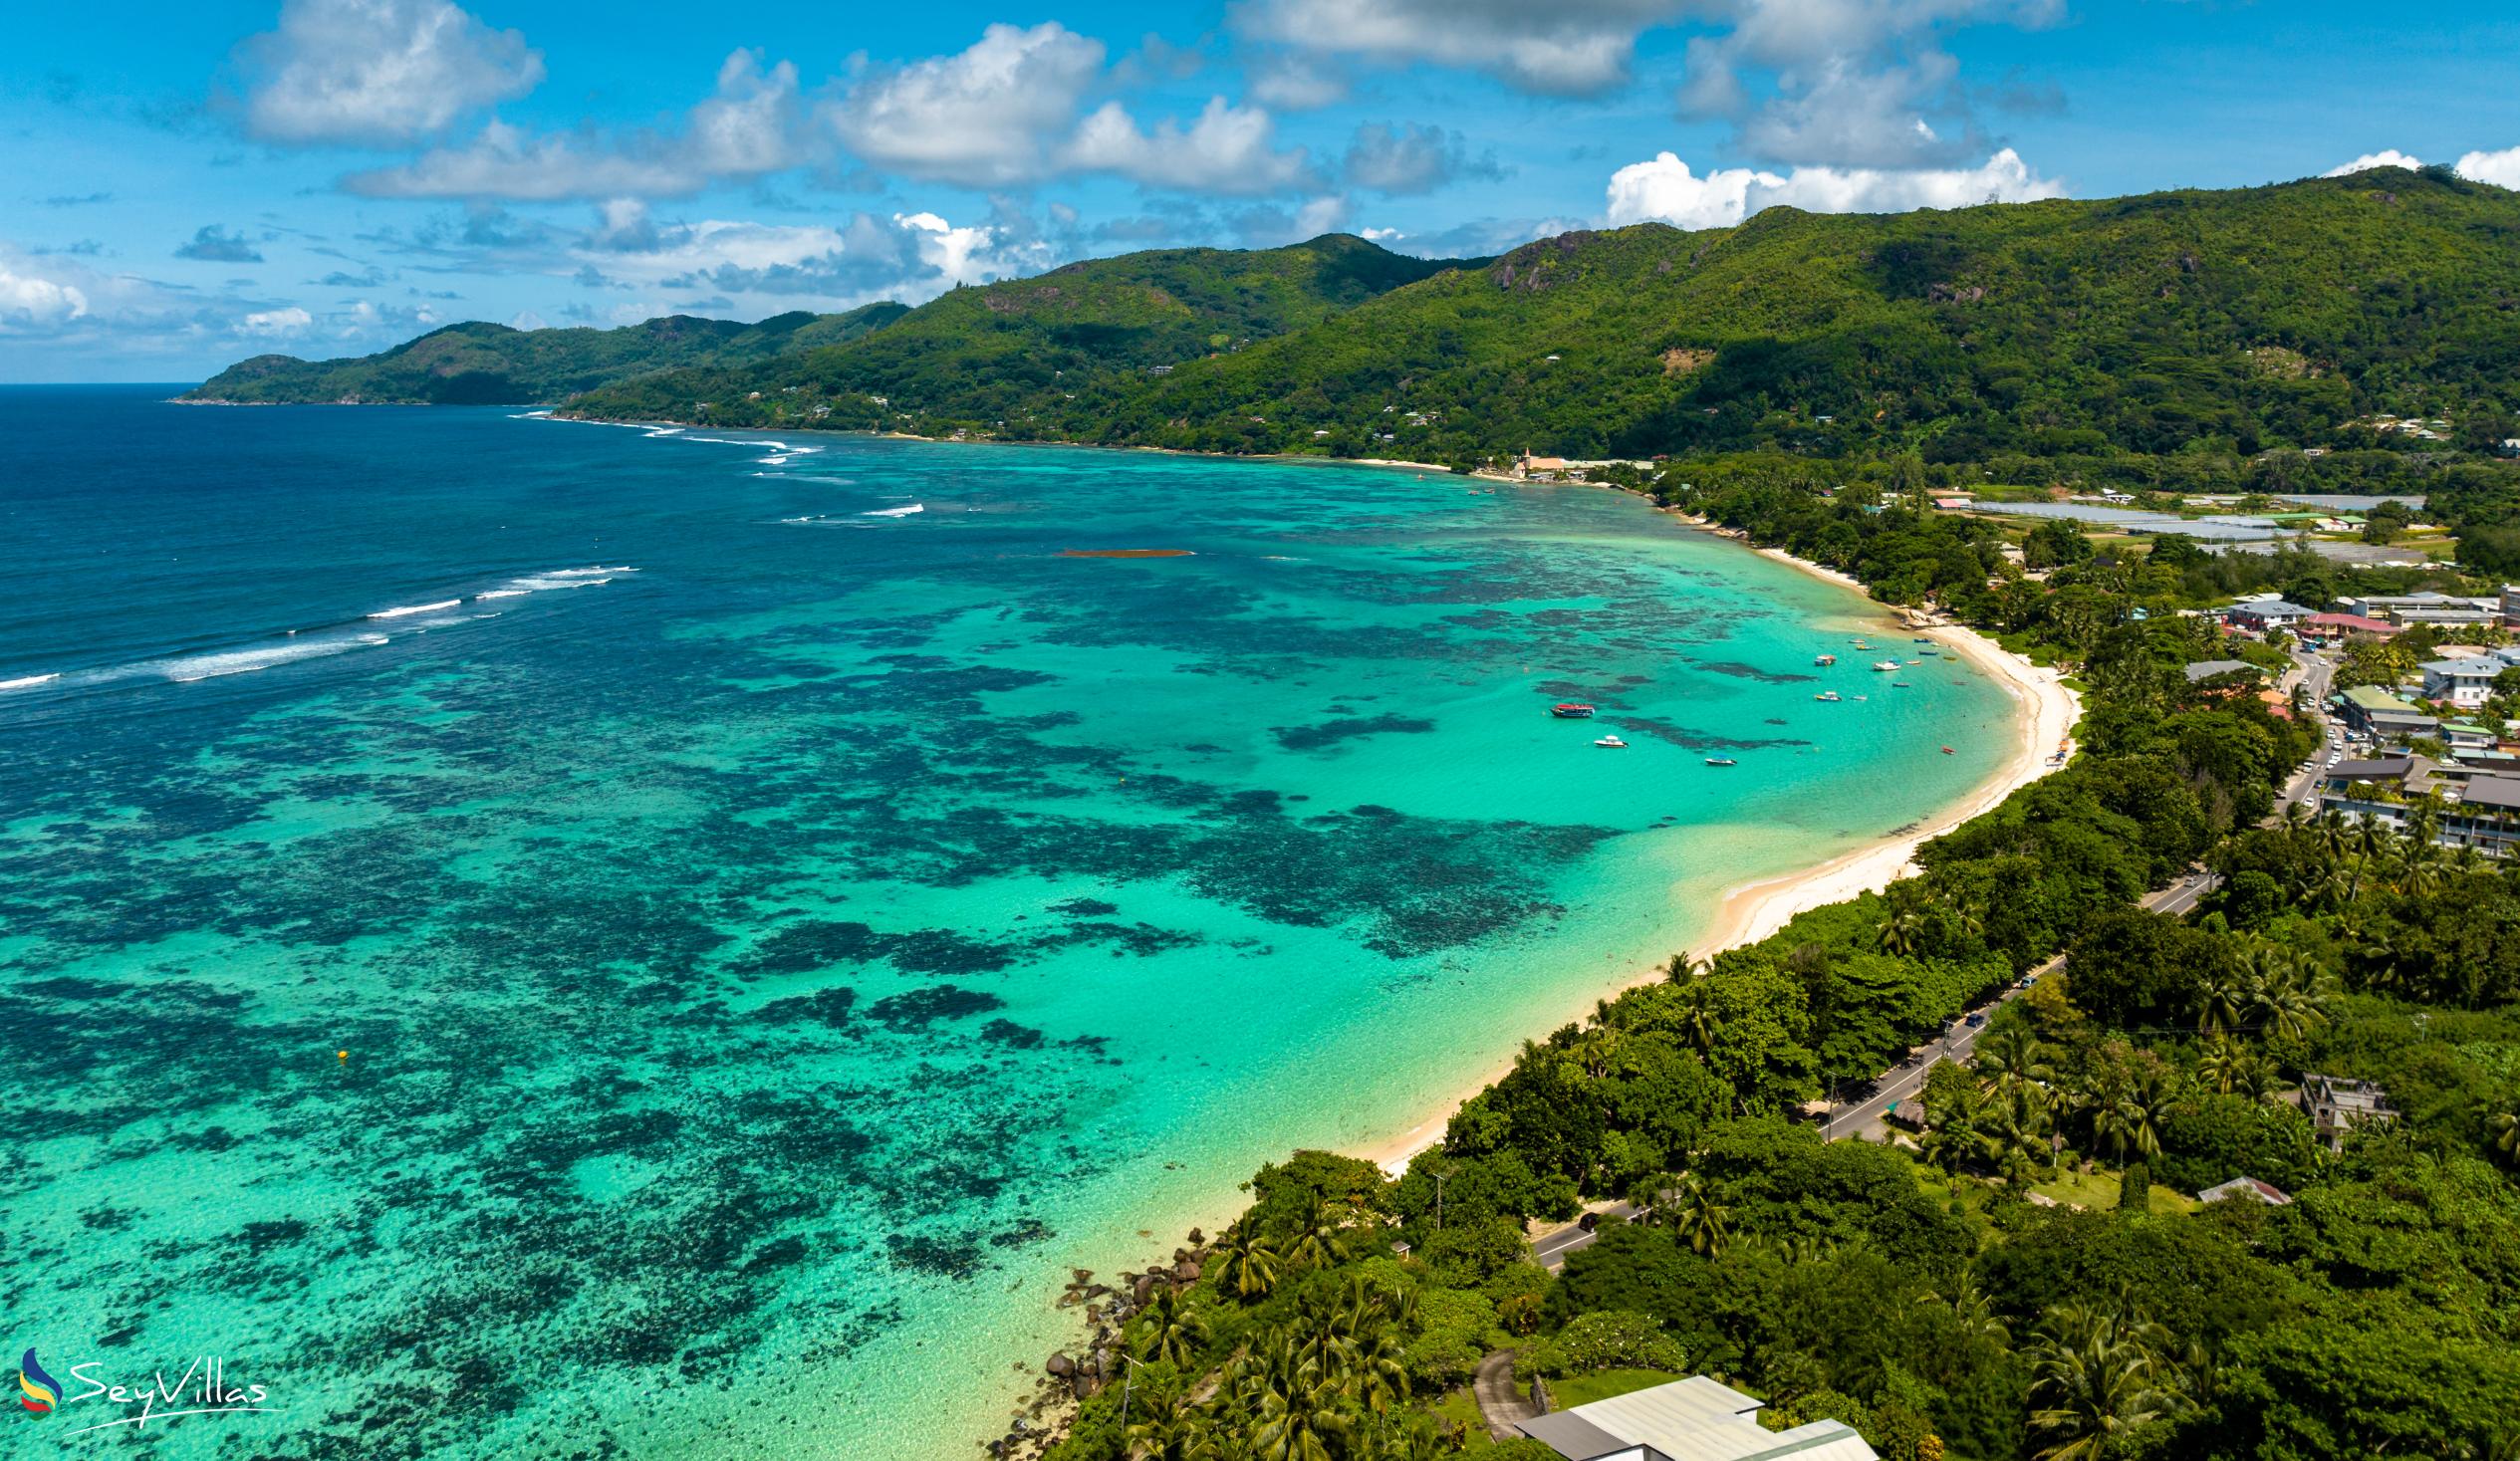
[[[449,325],[353,360],[255,355],[239,360],[184,401],[249,406],[491,406],[559,401],[622,375],[673,365],[764,360],[854,340],[900,320],[902,305],[867,305],[847,315],[791,312],[738,325],[665,315],[620,330],[512,330]]]

